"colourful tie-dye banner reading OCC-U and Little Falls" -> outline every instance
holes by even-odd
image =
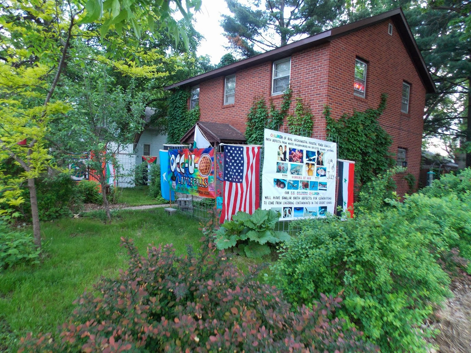
[[[214,191],[214,148],[169,150],[167,179],[171,190],[210,199]]]

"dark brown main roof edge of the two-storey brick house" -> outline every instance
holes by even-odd
[[[318,33],[308,38],[304,38],[304,39],[292,42],[290,44],[284,45],[283,47],[279,47],[279,48],[267,51],[265,53],[238,61],[236,63],[220,67],[219,69],[205,72],[201,75],[189,78],[187,80],[177,82],[173,85],[165,87],[164,89],[169,90],[172,88],[177,88],[179,86],[187,86],[187,85],[194,86],[200,82],[203,82],[203,81],[215,78],[215,77],[227,76],[227,75],[233,74],[236,71],[239,71],[246,67],[250,67],[256,64],[261,64],[267,61],[275,61],[278,59],[282,59],[284,57],[291,56],[292,53],[330,42],[336,38],[339,38],[351,32],[355,32],[362,28],[365,28],[374,24],[378,24],[386,20],[387,18],[390,18],[396,25],[398,33],[404,43],[404,46],[407,49],[407,52],[409,53],[409,56],[412,62],[414,63],[415,69],[419,73],[419,76],[422,80],[422,83],[423,83],[423,86],[425,87],[426,92],[427,93],[436,92],[435,84],[433,83],[433,80],[430,76],[429,69],[427,68],[427,65],[425,65],[425,62],[423,61],[422,54],[420,53],[420,50],[417,47],[417,43],[415,42],[414,36],[412,35],[409,25],[407,24],[406,17],[404,16],[404,13],[402,12],[401,8],[395,8],[394,10],[384,12],[380,15],[368,17],[363,20],[353,22],[351,24],[345,24],[343,26],[336,27],[322,33]]]

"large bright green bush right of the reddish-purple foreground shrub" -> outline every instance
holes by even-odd
[[[450,295],[439,253],[430,249],[445,249],[447,234],[420,233],[405,215],[407,207],[305,221],[273,266],[277,285],[293,304],[343,291],[341,317],[382,352],[427,352],[430,332],[421,325]]]

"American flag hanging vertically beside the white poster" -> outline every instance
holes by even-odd
[[[260,146],[224,146],[224,201],[220,222],[260,207]]]

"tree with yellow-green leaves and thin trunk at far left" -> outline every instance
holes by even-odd
[[[100,22],[102,36],[110,28],[117,32],[132,28],[136,37],[147,29],[167,30],[176,43],[181,38],[188,47],[186,32],[171,17],[171,3],[185,18],[190,9],[198,10],[201,6],[201,0],[187,0],[186,10],[181,0],[166,0],[160,4],[150,0],[126,3],[119,0],[0,0],[0,113],[4,118],[0,122],[0,160],[11,158],[24,170],[19,178],[8,178],[15,184],[7,191],[10,198],[14,197],[12,192],[19,187],[18,183],[27,180],[37,247],[41,247],[41,232],[35,178],[50,165],[45,142],[50,119],[71,108],[61,101],[51,100],[69,60],[71,41],[86,34],[81,24]],[[157,19],[158,27],[155,26]],[[134,69],[130,62],[116,65],[127,72]],[[25,147],[17,144],[24,140]]]

